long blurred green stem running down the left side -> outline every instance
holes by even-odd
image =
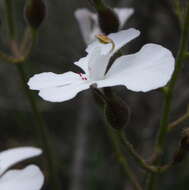
[[[14,46],[14,49],[12,49],[14,56],[17,58],[19,57],[19,50],[17,47],[17,44],[15,43],[15,24],[14,24],[14,19],[13,19],[13,5],[12,5],[13,0],[5,0],[5,8],[6,8],[6,17],[7,17],[7,22],[8,22],[8,27],[9,27],[9,35],[10,35],[10,44],[12,44],[12,42],[14,42],[14,45],[16,45],[16,47]],[[35,32],[32,33],[33,37],[35,37]],[[11,47],[12,48],[12,47]],[[15,51],[15,52],[14,52]],[[18,55],[17,55],[18,54]],[[59,190],[59,183],[57,180],[57,171],[55,169],[55,165],[54,165],[54,160],[52,158],[52,152],[51,152],[51,148],[50,148],[50,142],[49,142],[49,135],[47,133],[47,129],[45,128],[45,123],[44,120],[37,108],[37,104],[35,102],[34,97],[31,94],[31,91],[28,89],[27,86],[27,76],[24,72],[23,69],[23,63],[24,63],[25,59],[21,60],[18,64],[16,64],[16,68],[18,71],[18,74],[20,76],[21,79],[21,84],[23,86],[24,92],[28,98],[28,101],[30,103],[34,118],[35,118],[35,129],[36,132],[38,134],[38,139],[39,139],[39,143],[43,149],[44,152],[44,157],[46,159],[47,162],[47,169],[49,172],[49,176],[50,176],[50,180],[51,180],[51,189],[53,190]]]

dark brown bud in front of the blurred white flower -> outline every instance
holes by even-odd
[[[98,14],[98,22],[102,32],[106,35],[117,32],[120,26],[117,14],[102,0],[93,0],[93,4]]]

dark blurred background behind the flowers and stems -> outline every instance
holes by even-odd
[[[26,27],[23,15],[25,2],[25,0],[14,1],[18,40],[22,38]],[[137,28],[141,31],[141,36],[128,44],[125,48],[127,53],[138,51],[146,43],[158,43],[176,55],[180,28],[174,13],[173,1],[106,0],[105,2],[111,7],[130,7],[135,10],[124,28]],[[83,7],[95,11],[89,2],[46,0],[46,4],[47,17],[39,29],[32,54],[24,63],[28,78],[40,72],[78,71],[73,63],[85,55],[86,45],[74,12]],[[7,46],[8,34],[3,0],[0,1],[0,18],[0,48],[10,53]],[[188,72],[189,65],[186,62],[176,86],[171,121],[186,111],[189,98]],[[17,146],[37,146],[33,114],[14,65],[1,61],[0,86],[0,150]],[[144,158],[148,158],[152,153],[159,127],[163,105],[162,92],[154,90],[149,93],[135,93],[123,87],[113,89],[127,102],[132,113],[130,123],[125,129],[128,138],[137,151]],[[62,189],[133,189],[117,163],[106,134],[103,114],[96,106],[90,91],[81,92],[73,100],[62,103],[49,103],[37,96],[37,92],[32,93],[51,137],[49,141],[52,143]],[[178,147],[182,127],[188,127],[188,122],[184,122],[167,137],[165,162],[170,160]],[[39,158],[35,160],[41,164]],[[159,182],[161,189],[189,188],[188,161],[186,158],[180,165],[163,175]],[[130,166],[135,169],[136,175],[143,182],[144,173],[131,159]],[[47,175],[42,164],[41,168]],[[48,180],[44,189],[50,189]]]

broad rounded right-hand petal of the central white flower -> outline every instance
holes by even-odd
[[[136,54],[118,58],[98,87],[124,85],[132,91],[147,92],[163,87],[174,71],[172,53],[156,44],[146,44]]]

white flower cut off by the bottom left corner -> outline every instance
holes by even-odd
[[[44,176],[35,165],[24,169],[9,170],[13,165],[31,157],[38,156],[42,151],[33,147],[20,147],[0,152],[0,190],[40,190]]]

